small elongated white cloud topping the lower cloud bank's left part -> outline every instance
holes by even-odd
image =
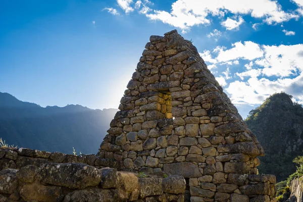
[[[232,48],[224,51],[219,49],[218,57],[219,62],[226,62],[236,59],[254,60],[263,56],[261,47],[252,41],[244,41],[244,44],[239,41],[232,44]]]

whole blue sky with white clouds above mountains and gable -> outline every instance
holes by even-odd
[[[0,91],[118,108],[150,35],[192,40],[245,118],[270,94],[303,103],[303,0],[1,1]]]

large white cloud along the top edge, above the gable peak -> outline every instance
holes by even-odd
[[[267,24],[282,23],[299,17],[284,12],[277,1],[271,0],[177,0],[172,4],[170,12],[155,10],[146,16],[151,20],[160,20],[163,23],[179,27],[186,32],[194,25],[209,25],[211,23],[210,15],[224,17],[225,13],[235,16],[250,15],[254,18],[264,19]],[[227,21],[229,29],[235,26],[235,23],[230,25],[232,21],[232,19]]]

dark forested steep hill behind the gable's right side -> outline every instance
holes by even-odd
[[[284,92],[275,93],[251,110],[245,120],[265,150],[259,172],[274,174],[277,181],[296,171],[292,160],[303,154],[303,108],[291,99]]]

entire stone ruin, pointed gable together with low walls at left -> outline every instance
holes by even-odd
[[[276,201],[264,150],[176,30],[151,36],[97,155],[0,149],[1,201]]]

